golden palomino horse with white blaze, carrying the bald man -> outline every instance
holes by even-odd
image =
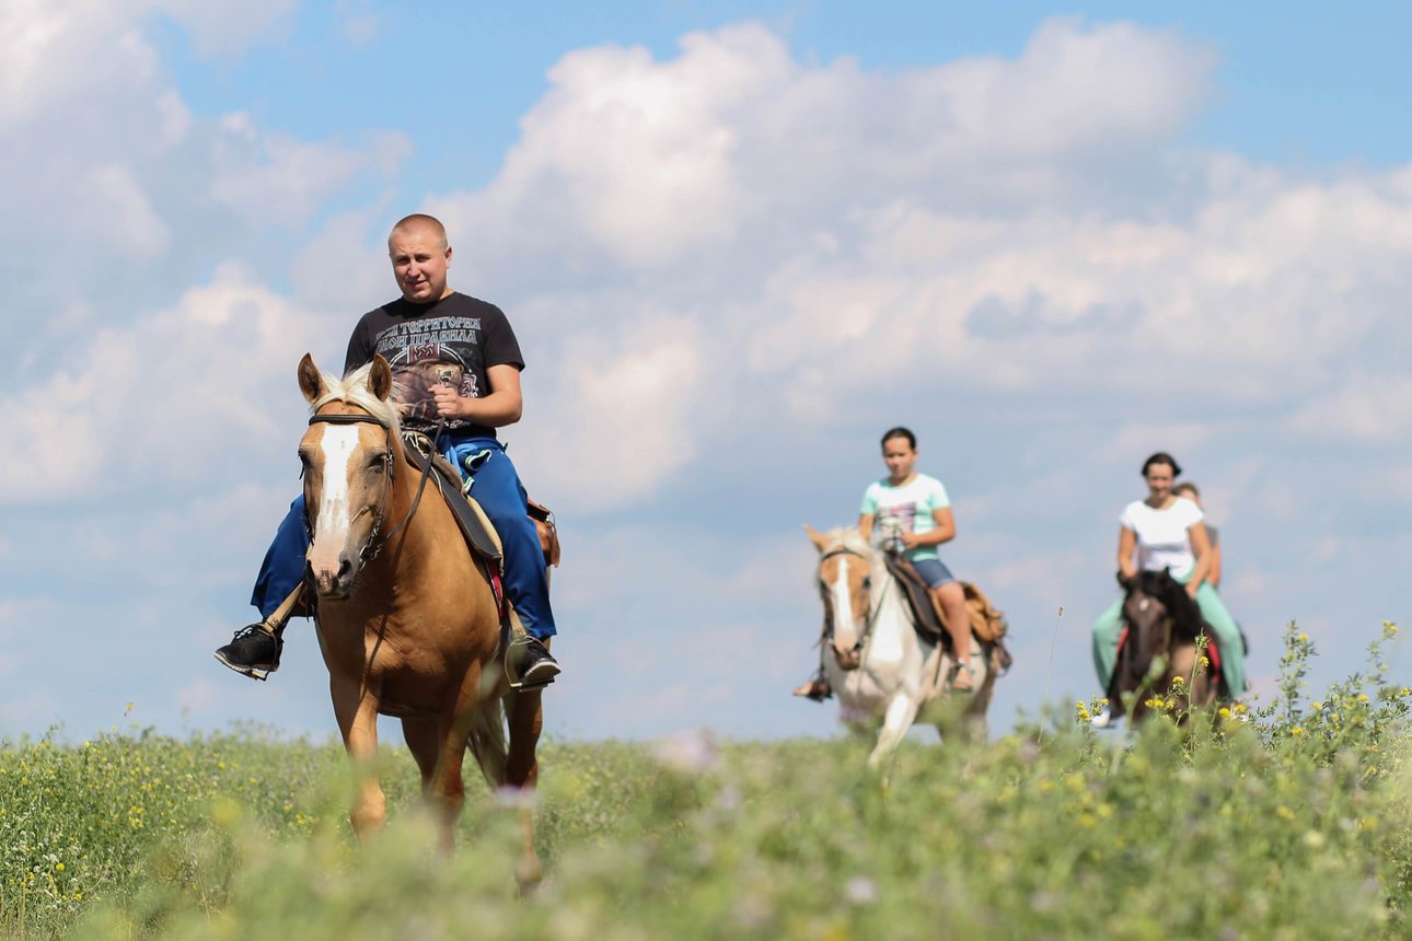
[[[318,593],[333,712],[359,776],[353,828],[363,837],[383,825],[377,717],[395,715],[449,851],[465,803],[467,745],[491,787],[534,787],[539,693],[507,693],[490,577],[446,502],[435,492],[419,499],[422,481],[388,402],[387,361],[377,356],[340,381],[305,354],[299,389],[312,411],[299,443],[313,536],[306,578]],[[522,814],[517,875],[528,883],[539,876],[539,859],[531,813]]]

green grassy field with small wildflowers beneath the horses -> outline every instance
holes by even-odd
[[[515,800],[473,789],[435,854],[412,762],[349,835],[336,743],[258,729],[0,746],[0,933],[92,938],[1399,938],[1412,875],[1412,690],[1382,646],[1330,690],[1286,635],[1281,694],[1097,736],[548,742],[546,879],[513,879]],[[467,769],[470,780],[470,769]]]

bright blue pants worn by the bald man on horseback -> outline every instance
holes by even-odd
[[[554,611],[549,608],[549,573],[539,550],[539,535],[525,515],[525,488],[504,446],[493,437],[442,435],[442,454],[462,478],[470,478],[470,495],[490,516],[505,550],[505,594],[520,614],[525,631],[535,638],[552,638]],[[474,470],[470,470],[470,468]],[[431,487],[431,484],[428,484]],[[395,521],[388,521],[395,525]],[[304,578],[309,533],[304,526],[304,495],[285,515],[265,553],[250,604],[268,618]]]

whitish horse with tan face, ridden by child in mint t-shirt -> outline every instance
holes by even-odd
[[[946,650],[918,636],[912,611],[887,570],[881,550],[857,528],[827,533],[805,526],[819,550],[818,585],[823,597],[823,670],[843,705],[843,718],[861,728],[882,718],[868,766],[881,766],[897,749],[918,711],[950,694],[953,662]],[[974,693],[963,710],[973,734],[986,734],[986,710],[995,687],[991,650],[971,638]],[[938,721],[943,735],[945,720]]]

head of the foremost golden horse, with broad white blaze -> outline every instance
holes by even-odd
[[[373,361],[343,380],[305,353],[299,391],[309,401],[309,430],[299,442],[304,504],[313,540],[308,576],[321,598],[346,598],[377,536],[393,491],[397,411],[388,402],[393,372]]]

